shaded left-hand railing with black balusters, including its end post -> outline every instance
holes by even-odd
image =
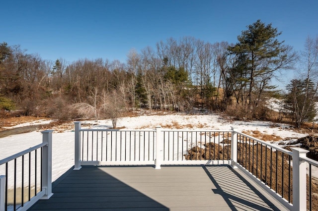
[[[25,211],[53,195],[52,132],[42,132],[41,144],[0,160],[0,211]]]

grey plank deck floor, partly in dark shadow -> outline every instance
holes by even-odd
[[[239,170],[213,166],[83,166],[53,184],[30,211],[286,210]]]

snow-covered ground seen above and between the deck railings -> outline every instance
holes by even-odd
[[[40,124],[41,122],[38,121]],[[109,128],[111,120],[84,121],[85,124],[92,124],[90,128]],[[34,123],[33,123],[34,124]],[[231,126],[237,127],[239,131],[260,131],[263,134],[276,135],[283,140],[296,140],[307,134],[293,131],[289,125],[273,124],[265,121],[232,121],[224,119],[219,115],[142,115],[136,117],[119,118],[117,127],[125,129],[154,129],[161,125],[162,128],[183,128],[183,129],[213,129],[229,130]],[[23,124],[26,126],[26,124]],[[15,127],[18,127],[15,126]],[[87,126],[86,126],[87,127]],[[53,132],[53,152],[52,152],[52,180],[55,181],[68,169],[74,165],[74,130],[64,132]],[[14,155],[42,142],[40,131],[33,131],[24,134],[11,135],[0,138],[0,159]],[[278,144],[278,142],[275,142]],[[0,175],[3,174],[3,167],[0,168]]]

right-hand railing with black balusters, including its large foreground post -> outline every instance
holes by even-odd
[[[234,135],[237,167],[290,210],[318,209],[318,180],[312,177],[312,166],[318,169],[318,162],[306,157],[309,151],[292,147],[290,152],[235,129]]]

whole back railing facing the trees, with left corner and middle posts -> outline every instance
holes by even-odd
[[[232,130],[83,129],[75,122],[81,165],[230,164]]]

